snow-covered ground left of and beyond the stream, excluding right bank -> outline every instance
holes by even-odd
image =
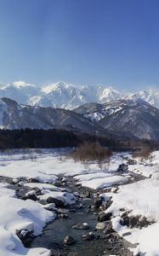
[[[109,167],[110,173],[105,173],[101,172],[96,164],[85,169],[80,163],[75,163],[72,160],[61,160],[59,154],[55,152],[54,154],[31,152],[31,158],[28,154],[21,154],[20,152],[16,152],[16,154],[4,153],[0,159],[0,176],[11,177],[14,183],[19,183],[20,177],[25,177],[27,182],[20,182],[20,185],[31,189],[40,189],[42,191],[42,195],[39,196],[40,200],[46,201],[49,196],[53,196],[66,205],[75,203],[76,199],[71,193],[62,192],[63,189],[54,186],[58,175],[76,176],[79,183],[94,189],[110,186],[113,183],[126,181],[126,177],[114,176],[111,173],[116,172],[119,161],[122,162],[120,156],[117,157],[117,162],[112,160]],[[32,183],[31,179],[35,179],[37,182]],[[34,194],[34,190],[31,193]],[[47,211],[37,201],[22,201],[15,197],[15,191],[9,188],[9,183],[0,183],[0,206],[2,209],[0,213],[0,255],[49,255],[49,251],[43,248],[26,249],[16,232],[17,230],[25,230],[24,232],[33,230],[34,235],[37,236],[41,233],[43,226],[54,219],[54,212]]]

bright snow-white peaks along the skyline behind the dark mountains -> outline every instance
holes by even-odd
[[[159,108],[159,91],[141,90],[133,94],[123,95],[113,88],[102,85],[74,85],[59,82],[47,86],[27,84],[23,81],[1,85],[0,98],[9,97],[20,104],[31,106],[74,109],[88,102],[105,103],[118,99],[142,99],[153,107]]]

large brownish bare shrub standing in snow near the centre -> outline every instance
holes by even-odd
[[[96,162],[101,170],[105,170],[109,166],[111,160],[111,150],[102,147],[98,142],[96,143],[83,143],[68,155],[68,158],[80,161],[88,168],[91,162]]]

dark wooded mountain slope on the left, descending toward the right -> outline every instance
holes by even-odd
[[[20,105],[9,98],[0,99],[0,128],[66,128],[90,133],[99,131],[106,134],[98,124],[71,110]]]

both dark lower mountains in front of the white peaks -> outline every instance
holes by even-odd
[[[0,99],[2,129],[66,129],[104,137],[159,140],[159,109],[141,99],[85,103],[73,110]]]

